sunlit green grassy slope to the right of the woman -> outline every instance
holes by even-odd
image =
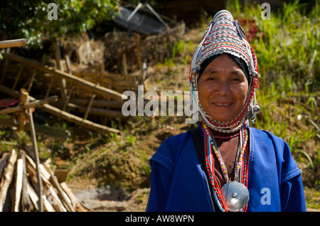
[[[229,6],[235,18],[254,23],[242,26],[255,47],[260,72],[257,103],[262,108],[254,127],[282,137],[300,163],[318,172],[319,130],[319,2],[306,13],[305,4],[294,1],[271,10],[270,20],[262,20],[260,5]],[[309,178],[310,179],[310,178]],[[311,181],[309,181],[311,182]],[[313,178],[313,185],[319,179]]]

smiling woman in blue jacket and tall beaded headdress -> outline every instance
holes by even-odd
[[[151,163],[147,211],[305,211],[301,171],[285,141],[248,126],[259,107],[257,58],[219,11],[189,76],[202,123],[166,139]]]

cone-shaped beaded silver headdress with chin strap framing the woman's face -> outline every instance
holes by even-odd
[[[201,63],[213,55],[229,53],[245,61],[250,74],[250,84],[247,101],[240,114],[229,122],[217,122],[204,111],[198,99],[198,77]],[[245,120],[255,120],[255,112],[259,107],[255,103],[255,87],[259,87],[257,58],[250,47],[238,20],[233,20],[229,11],[222,10],[215,14],[206,29],[203,40],[196,48],[191,61],[189,81],[191,85],[192,103],[201,114],[208,127],[217,131],[229,133],[240,129]],[[234,127],[234,128],[233,128]],[[233,128],[233,129],[230,129]]]

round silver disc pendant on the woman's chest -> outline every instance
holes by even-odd
[[[238,212],[245,208],[250,195],[245,185],[237,181],[229,181],[221,188],[221,196],[228,211]]]

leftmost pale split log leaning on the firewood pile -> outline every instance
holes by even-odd
[[[8,192],[9,185],[12,181],[12,173],[14,172],[14,164],[16,163],[16,151],[12,149],[8,164],[6,168],[4,169],[4,177],[1,180],[0,183],[0,212],[3,211],[4,208],[4,202],[6,201],[6,193]]]

